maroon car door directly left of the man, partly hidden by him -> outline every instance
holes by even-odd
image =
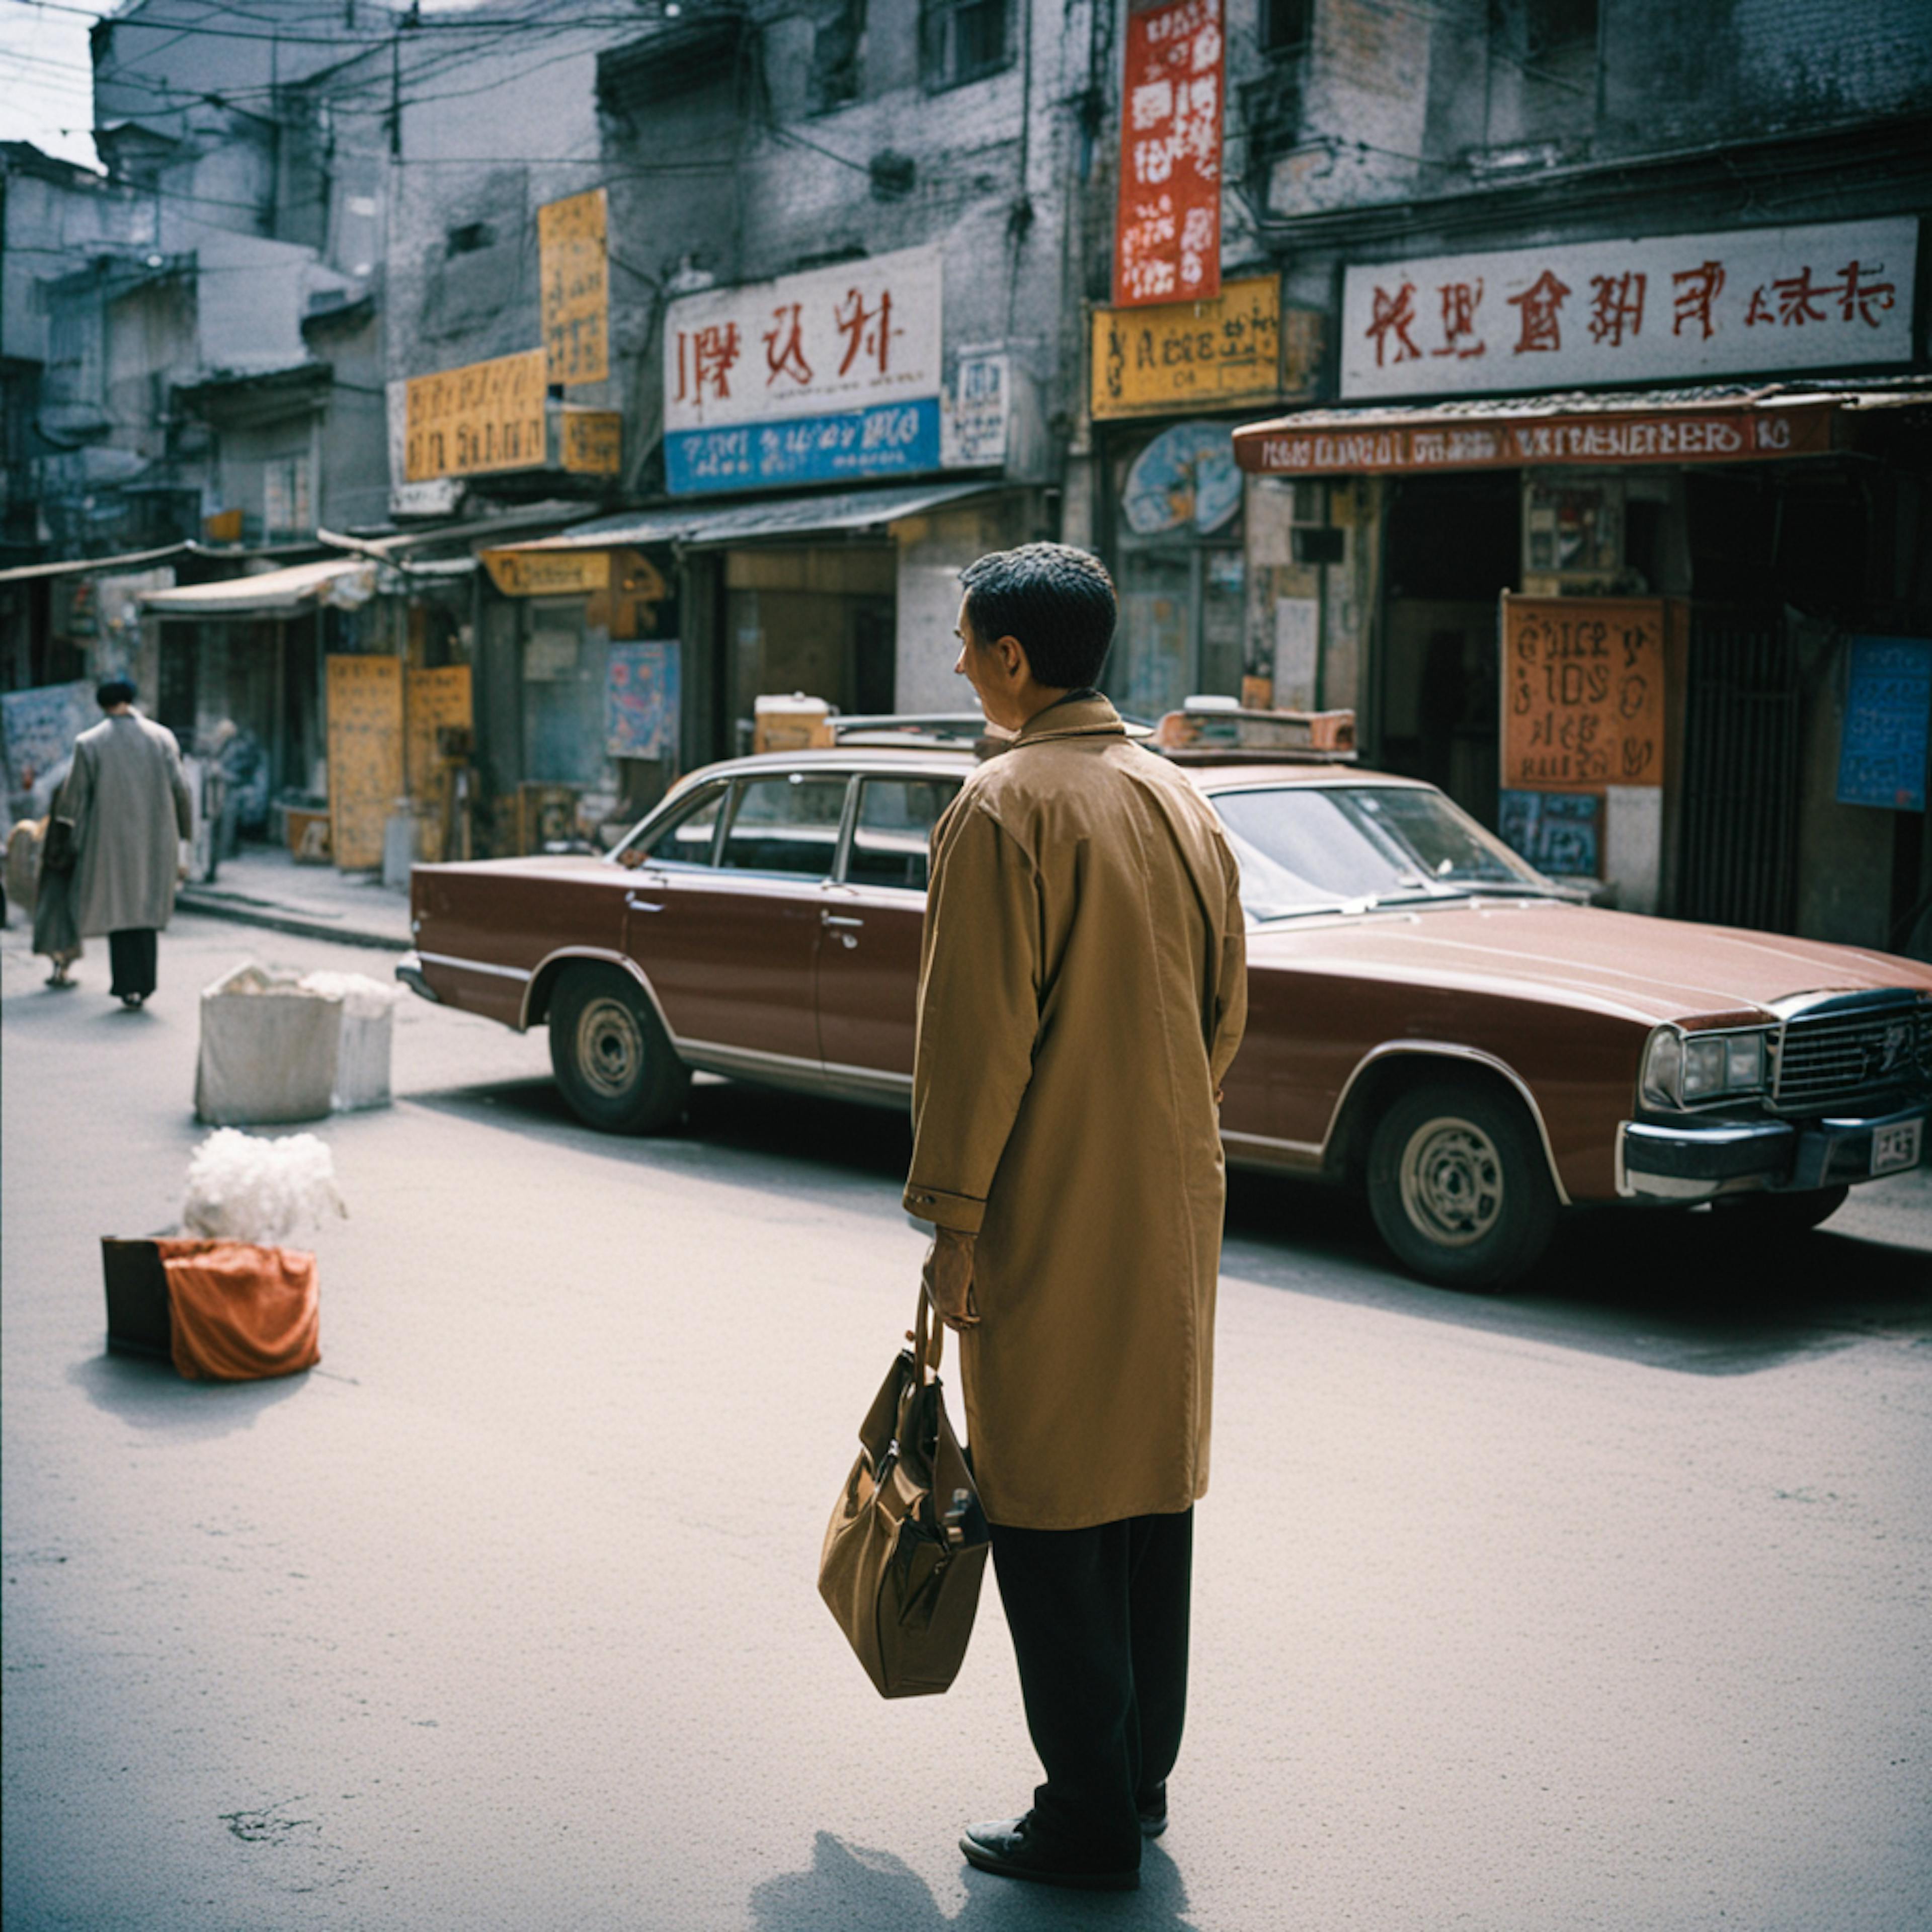
[[[838,877],[821,895],[819,1053],[827,1082],[912,1090],[920,931],[933,825],[958,779],[866,773]]]

